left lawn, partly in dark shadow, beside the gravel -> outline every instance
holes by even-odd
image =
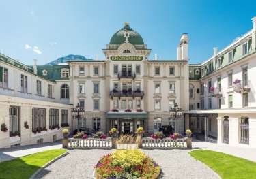
[[[19,157],[11,161],[0,163],[1,179],[26,179],[35,173],[40,167],[55,157],[65,153],[66,150],[47,150],[36,154]]]

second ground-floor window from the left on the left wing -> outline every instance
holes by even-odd
[[[32,131],[46,128],[46,110],[44,108],[32,108]]]

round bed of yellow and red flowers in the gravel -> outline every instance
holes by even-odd
[[[96,179],[155,179],[160,175],[159,165],[140,150],[116,150],[102,157],[94,168]]]

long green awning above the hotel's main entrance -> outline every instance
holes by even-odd
[[[148,118],[147,112],[108,112],[106,118]]]

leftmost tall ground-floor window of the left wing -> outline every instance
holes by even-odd
[[[10,137],[20,135],[20,109],[18,106],[10,106],[9,108],[9,131]]]

